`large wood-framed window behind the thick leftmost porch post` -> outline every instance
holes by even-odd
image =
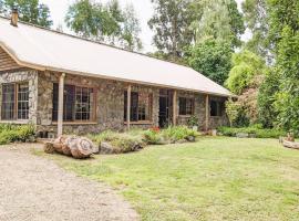
[[[53,85],[53,113],[52,119],[58,120],[59,84]],[[93,119],[94,90],[64,85],[63,120],[89,122]]]

